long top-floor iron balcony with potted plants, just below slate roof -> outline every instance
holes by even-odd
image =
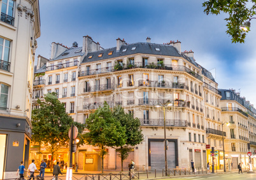
[[[194,76],[198,80],[203,80],[202,76],[199,74],[195,73],[194,71],[191,71],[188,69],[188,67],[185,66],[173,66],[170,64],[163,64],[163,66],[157,66],[156,64],[143,64],[142,62],[136,62],[134,64],[127,64],[125,66],[118,66],[118,68],[115,68],[115,66],[111,67],[103,67],[99,69],[92,69],[89,71],[80,71],[78,73],[79,77],[82,76],[90,76],[94,74],[102,74],[102,73],[110,73],[113,71],[122,71],[122,70],[127,70],[127,69],[134,69],[134,68],[145,68],[145,69],[163,69],[163,70],[169,70],[169,71],[184,71],[187,72],[188,74]]]

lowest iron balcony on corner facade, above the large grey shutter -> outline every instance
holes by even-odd
[[[142,126],[164,126],[163,119],[140,119]],[[166,127],[187,127],[187,120],[169,120],[166,119]]]

